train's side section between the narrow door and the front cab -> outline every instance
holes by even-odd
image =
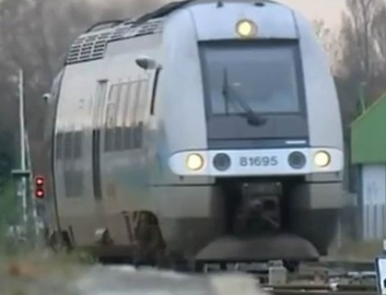
[[[126,212],[156,211],[149,185],[156,128],[150,109],[156,76],[154,70],[138,67],[136,59],[144,55],[161,62],[159,46],[157,35],[119,40],[108,45],[104,60],[109,91],[101,137],[103,193],[96,202],[103,206],[105,225],[116,245],[132,243]]]

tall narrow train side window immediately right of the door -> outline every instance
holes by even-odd
[[[113,85],[110,87],[108,98],[106,102],[105,111],[105,152],[110,152],[114,150],[114,131],[115,131],[115,115],[116,115],[116,103],[119,95],[120,85]]]

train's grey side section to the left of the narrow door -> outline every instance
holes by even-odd
[[[55,186],[62,231],[90,241],[98,219],[92,190],[91,113],[101,61],[66,67],[56,122]],[[101,221],[100,221],[101,222]]]

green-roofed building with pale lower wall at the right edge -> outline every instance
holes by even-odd
[[[351,163],[358,167],[358,205],[364,239],[386,237],[386,93],[351,126]]]

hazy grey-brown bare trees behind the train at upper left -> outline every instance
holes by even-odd
[[[17,130],[16,74],[22,68],[31,148],[38,150],[44,126],[40,97],[62,67],[73,39],[95,22],[132,17],[154,9],[160,2],[162,0],[0,1],[0,132]],[[1,151],[0,146],[0,154]]]

